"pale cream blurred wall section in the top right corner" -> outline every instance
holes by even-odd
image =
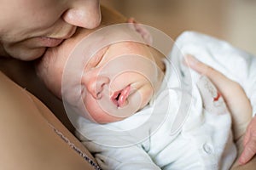
[[[229,0],[224,38],[256,54],[256,0]]]

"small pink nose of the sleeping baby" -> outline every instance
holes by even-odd
[[[109,78],[105,76],[90,77],[90,75],[84,75],[83,80],[82,83],[95,99],[102,98],[102,90],[110,82]]]

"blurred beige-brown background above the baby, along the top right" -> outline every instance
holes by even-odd
[[[256,0],[102,0],[173,39],[201,31],[256,54]]]

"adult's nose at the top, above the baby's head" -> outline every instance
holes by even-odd
[[[100,2],[99,0],[74,0],[71,8],[67,9],[62,17],[70,25],[95,28],[102,20]]]

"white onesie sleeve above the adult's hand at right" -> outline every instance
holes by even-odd
[[[201,62],[238,82],[244,89],[256,114],[256,57],[214,37],[185,31],[177,37],[176,47],[181,54],[192,54]],[[183,56],[180,56],[183,58]]]

